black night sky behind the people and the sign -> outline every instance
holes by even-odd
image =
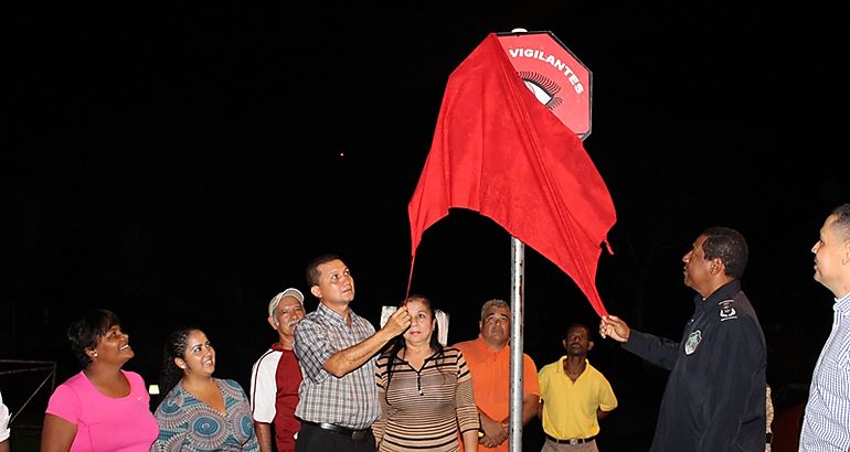
[[[593,72],[585,148],[618,216],[597,278],[609,312],[677,337],[692,295],[681,256],[704,227],[735,227],[768,377],[805,381],[831,319],[809,249],[850,201],[848,8],[456,3],[11,7],[0,357],[59,360],[67,376],[64,329],[105,306],[146,378],[163,332],[194,321],[221,376],[246,384],[274,340],[267,300],[306,289],[323,251],[346,257],[352,308],[376,322],[404,295],[406,205],[447,77],[488,33],[522,26]],[[453,315],[451,341],[476,334],[481,302],[510,297],[509,245],[469,212],[426,233],[414,290]],[[527,259],[527,351],[542,366],[566,322],[597,320],[554,265]],[[592,353],[612,372],[629,359]]]

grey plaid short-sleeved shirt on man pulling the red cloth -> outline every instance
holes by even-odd
[[[322,369],[334,353],[357,345],[375,333],[374,326],[351,309],[349,315],[351,327],[340,314],[319,303],[316,311],[298,322],[294,348],[304,380],[298,390],[295,416],[308,422],[365,429],[381,413],[375,386],[376,356],[342,378]]]

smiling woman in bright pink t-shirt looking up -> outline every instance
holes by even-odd
[[[118,316],[92,311],[71,324],[67,337],[83,372],[53,391],[41,451],[149,451],[159,426],[141,376],[121,369],[135,354]]]

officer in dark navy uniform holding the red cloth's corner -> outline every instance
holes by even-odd
[[[599,333],[670,370],[654,452],[763,452],[765,368],[762,326],[741,290],[748,250],[734,229],[712,227],[682,258],[694,311],[681,342],[641,333],[609,315]]]

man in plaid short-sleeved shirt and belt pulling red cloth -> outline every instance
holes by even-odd
[[[295,450],[372,452],[370,427],[381,411],[375,358],[411,325],[407,308],[395,311],[375,332],[349,308],[354,278],[336,255],[319,256],[307,266],[307,284],[319,305],[295,331],[295,354],[304,375],[295,410],[301,419]]]

